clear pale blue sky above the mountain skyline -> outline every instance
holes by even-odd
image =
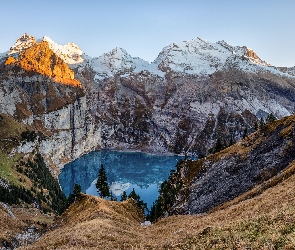
[[[294,0],[0,0],[0,8],[0,52],[26,32],[90,56],[122,47],[153,61],[170,43],[201,37],[295,66]]]

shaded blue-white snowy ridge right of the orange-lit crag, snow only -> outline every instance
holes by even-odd
[[[160,77],[168,72],[208,77],[218,70],[229,68],[250,73],[268,71],[293,77],[263,61],[246,46],[232,46],[224,40],[212,43],[199,37],[166,46],[152,63],[132,57],[122,48],[115,48],[92,58],[90,65],[96,73],[96,79],[100,80],[115,74],[128,76],[141,71]]]

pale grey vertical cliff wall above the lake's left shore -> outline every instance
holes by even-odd
[[[100,126],[88,116],[85,96],[57,111],[32,116],[25,122],[32,125],[36,120],[50,133],[19,146],[18,152],[27,154],[38,149],[55,174],[67,162],[100,148]]]

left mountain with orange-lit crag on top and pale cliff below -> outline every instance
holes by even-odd
[[[38,132],[14,151],[39,150],[58,174],[66,162],[100,147],[100,126],[89,116],[81,83],[48,42],[15,47],[1,66],[0,112]]]

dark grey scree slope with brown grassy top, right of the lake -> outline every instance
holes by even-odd
[[[183,163],[184,185],[170,213],[207,212],[279,174],[295,160],[294,136],[292,115],[217,154]]]

